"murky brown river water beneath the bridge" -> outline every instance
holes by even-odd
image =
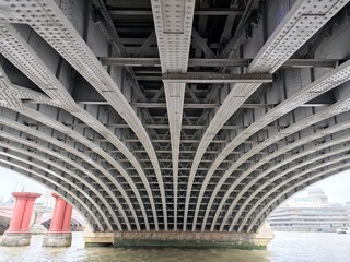
[[[350,235],[276,233],[267,250],[233,249],[84,249],[74,233],[70,248],[42,248],[42,236],[30,247],[0,247],[0,261],[117,261],[117,262],[350,262]]]

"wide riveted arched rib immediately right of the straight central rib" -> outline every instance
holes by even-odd
[[[345,4],[345,1],[337,1],[334,5],[323,5],[322,15],[319,13],[314,14],[315,7],[319,3],[313,1],[296,1],[283,21],[275,29],[273,34],[269,37],[261,50],[258,52],[252,64],[247,69],[247,73],[273,73],[282,63],[290,58],[307,39],[310,39],[329,19],[331,19],[337,11],[339,11]],[[323,3],[324,4],[324,3]],[[328,9],[329,8],[329,9]],[[312,26],[311,26],[312,24]],[[205,135],[202,136],[196,156],[190,169],[188,179],[186,203],[185,203],[185,224],[187,221],[188,205],[190,199],[190,190],[195,180],[197,168],[200,160],[223,124],[230,119],[230,117],[238,109],[238,107],[260,86],[261,84],[236,84],[219,108],[218,112],[211,120],[207,128]],[[242,141],[241,141],[242,142]],[[226,157],[231,151],[230,147],[224,150],[223,154],[220,154],[214,164],[212,165],[211,172],[217,169],[222,160]],[[207,186],[206,186],[207,187]],[[201,198],[198,198],[197,209],[195,211],[192,230],[196,229],[196,223],[198,217],[198,210]]]

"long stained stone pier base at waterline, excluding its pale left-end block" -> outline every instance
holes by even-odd
[[[266,249],[272,238],[254,233],[125,231],[115,233],[114,247]]]

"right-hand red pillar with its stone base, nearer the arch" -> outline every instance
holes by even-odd
[[[70,231],[70,222],[72,218],[72,206],[52,193],[56,199],[51,225],[46,233],[43,247],[69,247],[72,242],[72,233]]]

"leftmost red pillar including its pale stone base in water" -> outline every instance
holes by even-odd
[[[15,205],[9,229],[3,234],[1,246],[28,246],[31,243],[30,223],[35,199],[39,193],[13,192]]]

